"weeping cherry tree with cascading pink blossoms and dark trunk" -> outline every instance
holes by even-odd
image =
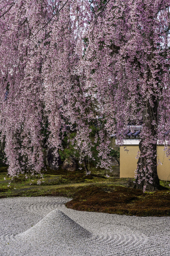
[[[143,123],[136,186],[155,188],[157,141],[170,155],[169,0],[0,2],[0,132],[10,176],[40,173],[44,145],[75,148],[109,169],[110,135],[123,144]]]

